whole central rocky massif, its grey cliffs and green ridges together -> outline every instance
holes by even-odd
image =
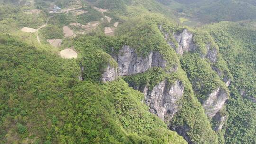
[[[138,23],[139,26],[148,25],[145,22]],[[120,46],[116,52],[110,52],[118,64],[117,75],[122,76],[131,87],[141,91],[145,96],[145,103],[149,106],[150,112],[164,120],[170,129],[177,131],[189,143],[200,144],[207,143],[207,141],[217,143],[217,136],[211,131],[210,123],[204,116],[202,108],[205,109],[205,114],[210,119],[213,118],[214,121],[218,121],[219,125],[213,129],[220,130],[226,116],[222,118],[215,117],[223,109],[229,96],[227,86],[221,80],[227,81],[228,85],[232,77],[229,75],[228,69],[220,65],[223,63],[221,55],[210,36],[206,35],[206,38],[204,38],[202,37],[204,32],[190,32],[185,28],[169,27],[170,29],[166,29],[164,25],[168,24],[168,22],[162,20],[155,22],[153,26],[150,25],[148,33],[160,38],[157,43],[158,47],[156,46],[153,49],[150,47],[147,49],[147,45],[136,45],[137,43],[143,43],[143,40],[149,41],[151,44],[156,42],[153,41],[154,39],[151,41],[151,37],[146,39],[145,34],[139,35],[142,40],[136,39],[132,34],[135,33],[135,29],[140,28],[139,26],[133,29],[129,24],[123,25],[121,28],[128,30],[123,31],[121,35],[123,36],[125,33],[125,36],[129,39],[126,45]],[[120,33],[118,35],[120,36]],[[133,40],[138,40],[138,42],[131,43],[131,41],[134,42]],[[167,48],[171,57],[163,54],[161,49],[163,47]],[[141,49],[145,51],[143,52]],[[178,55],[174,54],[175,51],[173,50],[182,55],[181,65],[178,61],[175,61]],[[191,74],[189,74],[191,70],[183,65],[183,59],[190,57],[188,55],[191,54],[195,59],[199,59],[201,63],[189,64],[195,68],[202,65],[202,68],[206,69],[206,74],[202,77],[198,77],[199,72],[195,72],[196,74],[191,77]],[[172,62],[172,60],[174,61]],[[192,61],[194,62],[194,59]],[[168,65],[169,63],[172,63],[171,66]],[[214,71],[214,66],[220,71],[219,75]],[[182,69],[187,73],[184,73]],[[209,81],[206,81],[209,75],[214,80],[212,81],[213,84],[208,84]],[[187,76],[189,80],[186,78]],[[190,83],[192,83],[194,94],[201,104],[194,98]],[[199,86],[195,83],[199,83]],[[188,99],[193,100],[188,101]],[[194,105],[196,108],[191,108],[189,105]],[[191,108],[191,110],[187,110],[186,107]],[[198,111],[198,108],[201,110]],[[191,121],[188,117],[200,118]],[[200,129],[201,133],[195,133],[196,129]],[[204,138],[200,142],[199,137],[202,136],[207,137],[208,140]]]

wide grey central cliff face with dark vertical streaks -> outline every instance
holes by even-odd
[[[146,57],[139,57],[134,49],[125,45],[119,54],[113,55],[118,63],[118,75],[127,76],[143,73],[151,67],[166,68],[166,60],[159,52],[150,52]],[[172,70],[170,70],[172,71]]]

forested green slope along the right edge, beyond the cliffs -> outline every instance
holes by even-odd
[[[229,118],[226,144],[256,143],[256,31],[237,23],[221,22],[204,27],[214,37],[232,73],[227,102]]]

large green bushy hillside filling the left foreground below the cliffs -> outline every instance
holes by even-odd
[[[0,42],[1,143],[28,138],[45,144],[186,144],[147,111],[143,95],[123,80],[78,81],[75,60],[13,36],[1,35]]]

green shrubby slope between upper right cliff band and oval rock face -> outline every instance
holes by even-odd
[[[181,65],[201,103],[217,87],[226,89],[224,82],[219,79],[218,75],[212,71],[210,64],[204,61],[199,54],[185,54],[181,59]]]

